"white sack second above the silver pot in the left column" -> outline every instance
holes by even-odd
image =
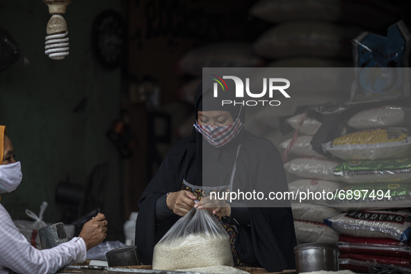
[[[307,220],[309,222],[323,223],[326,218],[341,214],[341,211],[331,207],[317,204],[293,203],[291,204],[294,220]]]

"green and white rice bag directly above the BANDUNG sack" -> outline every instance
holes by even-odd
[[[411,184],[407,183],[353,184],[341,188],[336,194],[335,200],[327,202],[341,211],[401,209],[411,204]]]

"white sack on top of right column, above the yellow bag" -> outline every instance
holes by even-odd
[[[378,106],[353,115],[347,124],[355,129],[410,125],[411,108],[404,106]]]

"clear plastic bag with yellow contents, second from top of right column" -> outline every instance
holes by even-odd
[[[405,127],[357,131],[323,144],[323,150],[344,160],[378,160],[410,154],[411,134]]]

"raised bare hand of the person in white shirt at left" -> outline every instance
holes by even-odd
[[[79,237],[83,238],[87,250],[106,239],[107,223],[106,216],[103,213],[98,213],[97,216],[92,217],[83,225]]]

